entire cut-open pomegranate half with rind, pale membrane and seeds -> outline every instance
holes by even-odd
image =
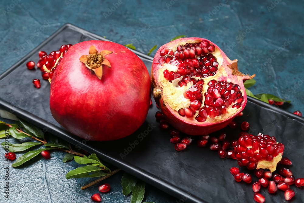
[[[255,75],[237,70],[209,40],[191,37],[157,51],[151,70],[153,97],[178,130],[206,135],[224,128],[247,102],[243,81]]]

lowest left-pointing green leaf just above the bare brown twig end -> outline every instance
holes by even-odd
[[[109,175],[109,173],[103,173],[101,172],[102,168],[100,166],[81,166],[78,167],[77,169],[69,171],[65,177],[67,179],[69,178],[85,178],[85,177],[100,177],[100,176],[105,176]],[[93,173],[93,174],[89,174]]]

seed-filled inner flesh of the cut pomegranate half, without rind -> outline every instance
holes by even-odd
[[[163,98],[180,116],[222,121],[241,109],[244,92],[230,80],[221,52],[208,41],[164,47],[158,63]]]

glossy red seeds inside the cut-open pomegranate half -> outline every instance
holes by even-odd
[[[191,82],[190,88],[183,94],[190,100],[190,104],[189,107],[178,110],[181,116],[192,118],[196,115],[196,121],[204,122],[208,116],[214,118],[226,114],[227,108],[232,103],[232,108],[240,108],[241,103],[244,102],[240,86],[227,81],[210,80],[207,84],[209,86],[207,92],[202,94],[205,82],[203,78],[215,75],[218,70],[219,63],[212,54],[215,50],[215,46],[206,40],[201,43],[178,45],[175,52],[168,47],[161,50],[159,64],[178,67],[176,72],[165,69],[164,78],[169,82],[177,79],[180,87],[187,86],[187,83]],[[205,100],[202,106],[203,96]]]

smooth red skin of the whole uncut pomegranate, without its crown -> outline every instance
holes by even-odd
[[[102,79],[79,58],[94,45],[111,68]],[[143,61],[123,45],[90,40],[73,45],[54,72],[50,110],[68,131],[93,141],[109,141],[135,132],[145,121],[150,106],[150,75]]]

